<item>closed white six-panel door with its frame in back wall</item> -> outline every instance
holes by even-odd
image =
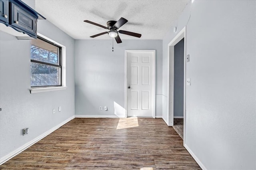
[[[155,117],[155,50],[126,50],[127,116]]]

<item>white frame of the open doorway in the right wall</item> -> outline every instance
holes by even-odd
[[[174,45],[184,38],[184,101],[183,101],[183,144],[185,144],[186,132],[186,26],[168,43],[168,91],[167,91],[167,115],[168,126],[173,126],[174,119]],[[170,87],[171,85],[171,87]]]

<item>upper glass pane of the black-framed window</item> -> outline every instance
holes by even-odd
[[[44,61],[46,63],[52,63],[59,65],[59,47],[40,40],[39,38],[36,40],[31,40],[30,45],[31,57],[30,59],[34,59],[37,61]]]

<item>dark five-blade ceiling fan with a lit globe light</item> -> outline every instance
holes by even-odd
[[[107,31],[107,32],[102,32],[100,34],[96,34],[94,36],[90,36],[91,38],[94,38],[94,37],[98,37],[98,36],[101,36],[103,34],[108,34],[111,38],[115,38],[116,39],[116,42],[117,43],[121,43],[121,39],[118,35],[118,33],[120,34],[126,34],[126,35],[129,35],[129,36],[134,36],[134,37],[138,37],[140,38],[141,37],[141,34],[138,34],[138,33],[134,33],[134,32],[129,32],[129,31],[124,31],[124,30],[119,30],[118,29],[123,26],[126,22],[128,22],[128,20],[126,20],[125,18],[120,18],[118,21],[108,21],[107,22],[107,27],[105,26],[102,26],[100,24],[97,24],[95,22],[91,22],[89,20],[84,20],[84,22],[87,22],[89,24],[93,24],[93,25],[96,25],[96,26],[99,26],[99,27],[102,27],[102,28],[105,28],[107,30],[110,30],[110,31]]]

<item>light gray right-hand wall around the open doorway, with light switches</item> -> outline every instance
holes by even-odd
[[[209,170],[256,169],[256,1],[195,0],[173,24],[186,25],[185,144]],[[163,40],[164,95],[175,36]]]

